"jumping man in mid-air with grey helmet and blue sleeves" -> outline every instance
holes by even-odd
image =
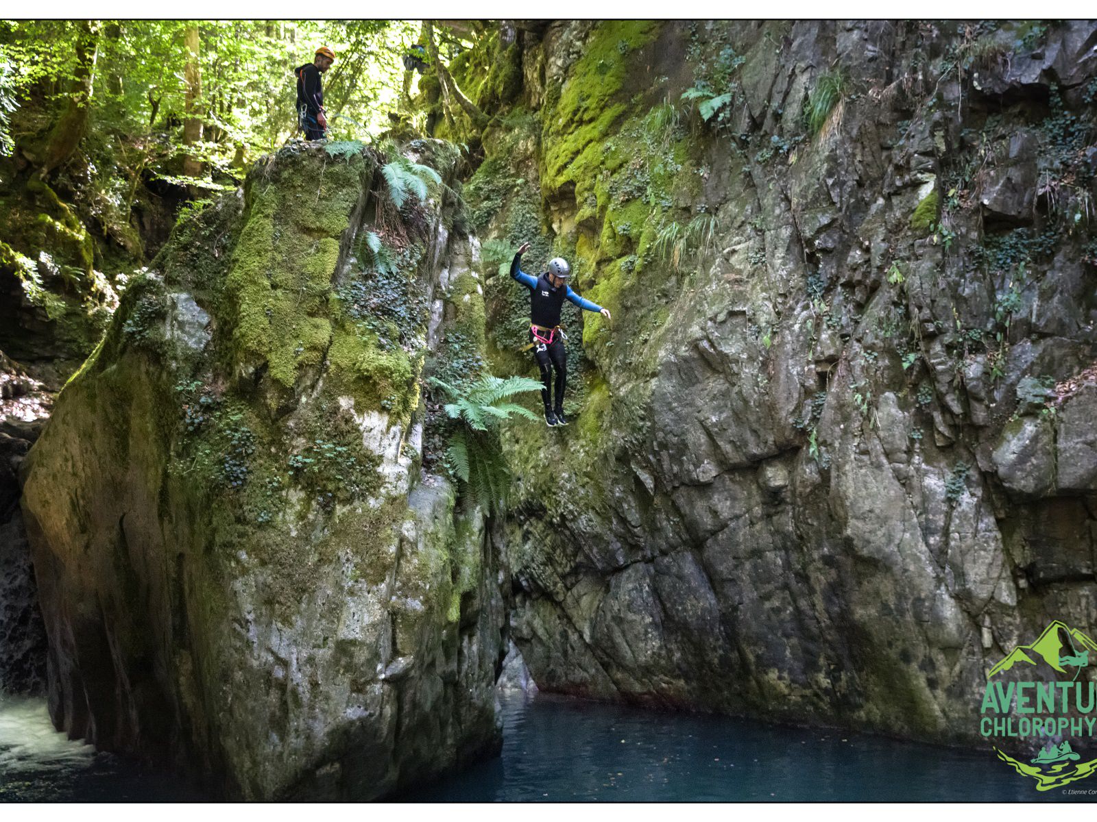
[[[563,329],[559,327],[559,309],[565,299],[572,300],[587,311],[600,311],[610,319],[608,309],[584,299],[567,285],[572,269],[563,258],[548,261],[548,271],[540,277],[532,277],[520,267],[522,253],[530,248],[523,242],[510,264],[510,276],[530,289],[530,342],[533,356],[541,369],[541,399],[545,403],[545,422],[550,425],[567,425],[564,418],[564,388],[567,380],[567,351],[564,349]],[[552,402],[552,372],[556,369],[556,404]]]

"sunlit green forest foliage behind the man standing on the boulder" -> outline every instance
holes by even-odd
[[[337,55],[324,78],[329,137],[365,139],[391,125],[416,89],[404,57],[422,30],[386,20],[0,21],[0,155],[18,145],[48,173],[83,140],[121,176],[217,189],[296,134],[293,70],[320,45]],[[436,38],[443,60],[470,45],[451,28]]]

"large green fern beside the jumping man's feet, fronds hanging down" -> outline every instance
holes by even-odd
[[[536,414],[511,398],[540,391],[541,384],[529,377],[502,379],[490,374],[467,386],[437,378],[429,383],[450,400],[443,410],[453,424],[445,450],[453,473],[473,502],[489,512],[498,511],[506,503],[510,486],[510,471],[499,447],[499,423],[513,416],[536,421]]]

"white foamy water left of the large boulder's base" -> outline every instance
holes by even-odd
[[[43,697],[0,694],[0,781],[20,774],[86,768],[92,745],[54,730]]]

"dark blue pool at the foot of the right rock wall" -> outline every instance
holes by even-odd
[[[661,713],[539,694],[501,698],[502,756],[411,801],[1045,801],[993,752]],[[974,719],[972,721],[975,721]],[[1097,788],[1097,784],[1094,785]]]

